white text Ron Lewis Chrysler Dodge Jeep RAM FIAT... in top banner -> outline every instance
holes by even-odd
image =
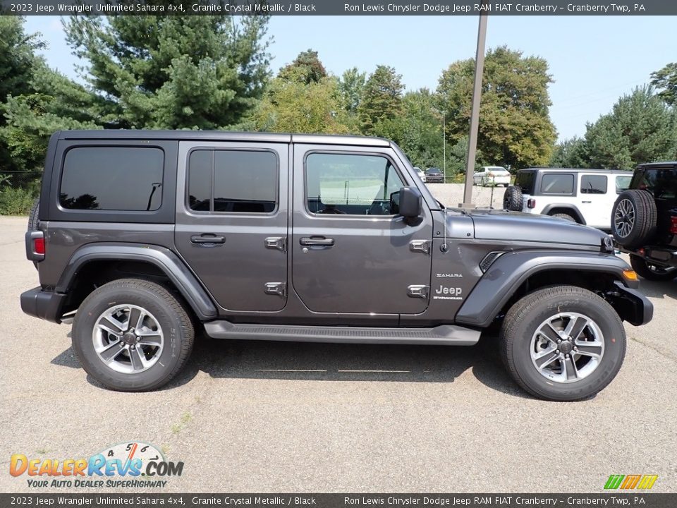
[[[633,4],[630,7],[625,4],[567,4],[556,6],[547,4],[343,4],[345,12],[389,12],[389,13],[629,13],[630,11],[643,11],[642,4]]]

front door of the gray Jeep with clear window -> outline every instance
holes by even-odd
[[[293,289],[318,313],[417,314],[428,305],[432,215],[391,196],[415,177],[390,147],[293,145]],[[427,243],[425,243],[427,242]]]

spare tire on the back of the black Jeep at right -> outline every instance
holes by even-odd
[[[636,189],[623,191],[611,210],[611,234],[618,245],[638,248],[652,240],[656,221],[656,202],[650,193]]]

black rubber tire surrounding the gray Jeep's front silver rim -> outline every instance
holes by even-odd
[[[537,370],[535,360],[532,360],[532,341],[535,340],[533,337],[536,337],[537,329],[549,318],[559,316],[561,313],[578,313],[587,317],[594,322],[603,336],[601,342],[604,349],[601,360],[596,366],[591,364],[594,369],[590,373],[572,382],[549,379]],[[626,332],[614,308],[592,291],[576,286],[551,286],[522,298],[508,310],[499,340],[501,357],[513,380],[535,397],[551,401],[577,401],[597,394],[616,377],[626,354]],[[566,343],[568,339],[564,337],[563,341]],[[554,351],[554,353],[559,351],[559,356],[564,351],[573,353],[572,344],[578,344],[583,348],[576,341],[561,346],[556,343],[551,345],[550,341],[546,342],[548,347],[563,349]],[[567,347],[566,350],[564,346]],[[579,363],[577,368],[585,368],[583,362],[590,361],[588,358],[590,357],[578,356],[578,359],[574,360],[575,363]],[[554,362],[557,362],[556,365]],[[547,365],[555,367],[559,365],[561,369],[565,360],[562,358],[554,362]],[[583,365],[580,365],[581,363]],[[578,370],[570,368],[570,372],[575,372],[578,377]]]

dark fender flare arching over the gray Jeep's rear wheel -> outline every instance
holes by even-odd
[[[181,258],[168,248],[135,243],[89,243],[75,251],[54,291],[65,294],[78,272],[90,261],[133,260],[150,262],[176,286],[201,321],[214,319],[216,306],[207,290],[197,280]]]

